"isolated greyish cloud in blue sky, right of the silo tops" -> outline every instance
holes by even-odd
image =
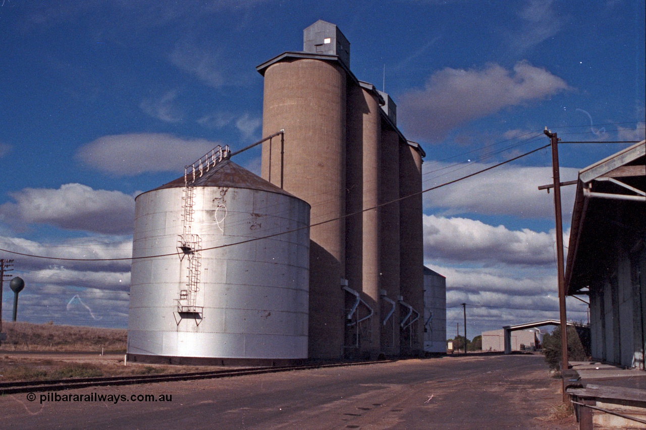
[[[516,63],[513,71],[497,64],[482,70],[444,68],[424,89],[401,97],[400,118],[412,138],[437,140],[472,119],[567,89],[563,79],[527,61]]]

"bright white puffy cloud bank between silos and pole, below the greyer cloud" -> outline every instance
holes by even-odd
[[[424,215],[424,257],[444,261],[554,264],[554,232],[509,230],[467,218]]]

